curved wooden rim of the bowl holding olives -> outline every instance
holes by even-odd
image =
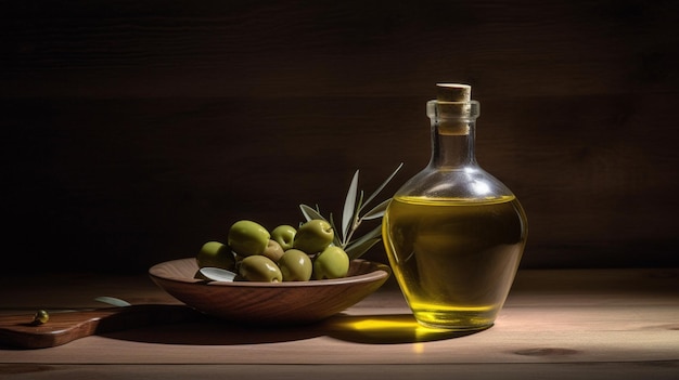
[[[353,265],[370,265],[373,268],[368,272],[356,276],[332,278],[332,279],[312,279],[308,281],[282,281],[282,283],[259,283],[259,281],[205,281],[193,277],[178,277],[178,276],[165,276],[161,273],[161,268],[171,263],[187,262],[195,260],[195,258],[184,258],[168,260],[157,263],[149,268],[149,275],[153,278],[164,281],[171,281],[176,284],[196,284],[200,286],[218,286],[226,288],[300,288],[300,287],[324,287],[336,285],[349,285],[349,284],[362,284],[372,283],[376,280],[386,279],[392,275],[392,270],[388,265],[369,261],[364,259],[351,260]]]

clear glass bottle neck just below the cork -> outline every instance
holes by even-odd
[[[465,125],[469,126],[466,133],[447,134],[439,123],[432,122],[431,167],[452,170],[476,166],[475,122]]]

